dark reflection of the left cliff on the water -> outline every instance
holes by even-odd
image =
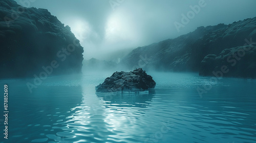
[[[9,84],[10,134],[5,142],[60,141],[56,133],[62,130],[56,125],[81,102],[81,86],[42,85],[30,93],[21,83]]]

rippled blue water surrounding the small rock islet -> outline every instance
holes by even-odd
[[[0,142],[256,142],[256,80],[149,74],[155,90],[139,94],[96,94],[112,73],[50,77],[32,93],[31,80],[2,80],[9,139],[2,115]]]

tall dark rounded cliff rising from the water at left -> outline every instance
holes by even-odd
[[[0,43],[0,78],[81,73],[83,47],[46,9],[0,1]]]

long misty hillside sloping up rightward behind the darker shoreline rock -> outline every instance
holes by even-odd
[[[201,68],[207,68],[206,65],[211,63],[204,62],[204,66],[201,66],[201,61],[207,55],[219,55],[225,49],[244,46],[247,43],[252,43],[253,40],[256,41],[256,17],[233,22],[229,25],[199,27],[194,32],[175,39],[138,47],[124,57],[121,63],[129,68],[143,67],[144,69],[153,68],[167,71],[200,70],[206,72],[207,70]],[[247,58],[247,54],[243,58]],[[256,62],[255,60],[252,61],[253,59],[249,60]],[[237,77],[231,73],[227,76]]]

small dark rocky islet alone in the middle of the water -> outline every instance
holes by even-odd
[[[137,68],[130,72],[116,72],[96,86],[96,92],[135,92],[155,88],[156,82],[145,70]]]

